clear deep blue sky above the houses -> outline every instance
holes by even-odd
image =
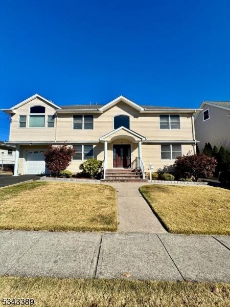
[[[230,100],[230,2],[2,1],[0,107]],[[0,115],[0,140],[9,121]]]

